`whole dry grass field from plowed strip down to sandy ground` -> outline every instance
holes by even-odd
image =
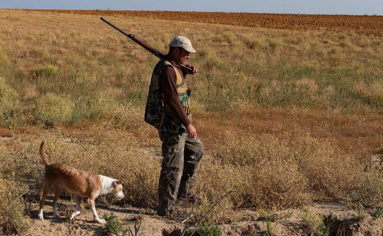
[[[0,114],[15,138],[0,140],[3,178],[37,179],[39,189],[45,139],[50,163],[121,179],[126,203],[156,207],[160,142],[143,110],[157,58],[95,16],[0,15],[0,108],[18,114]],[[380,37],[108,20],[162,52],[178,34],[198,51],[191,63],[200,72],[187,77],[192,122],[208,153],[194,186],[205,197],[197,215],[231,187],[237,191],[207,221],[239,207],[309,204],[317,194],[383,203],[381,169],[370,158],[383,143]],[[172,27],[159,34],[163,24]]]

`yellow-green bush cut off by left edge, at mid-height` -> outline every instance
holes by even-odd
[[[22,108],[16,90],[5,83],[0,77],[0,125],[13,127],[21,121]]]

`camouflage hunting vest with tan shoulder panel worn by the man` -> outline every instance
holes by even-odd
[[[177,116],[175,116],[172,112],[165,111],[164,103],[162,101],[164,95],[162,93],[162,88],[159,85],[159,78],[162,70],[164,70],[166,66],[171,66],[177,75],[177,94],[180,99],[181,106],[190,108],[190,90],[188,89],[185,81],[183,81],[182,75],[180,75],[178,70],[173,67],[172,63],[163,58],[157,63],[157,65],[155,65],[152,73],[145,108],[145,122],[154,126],[159,131],[185,133],[185,126],[181,124]],[[187,113],[187,116],[190,118],[190,114]]]

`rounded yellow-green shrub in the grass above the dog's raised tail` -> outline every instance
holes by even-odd
[[[37,99],[34,120],[46,127],[67,124],[72,119],[73,109],[74,104],[69,96],[48,93]]]

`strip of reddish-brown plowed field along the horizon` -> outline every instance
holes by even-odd
[[[383,16],[300,15],[190,11],[38,10],[103,16],[134,16],[163,20],[198,21],[275,29],[327,29],[381,35]]]

